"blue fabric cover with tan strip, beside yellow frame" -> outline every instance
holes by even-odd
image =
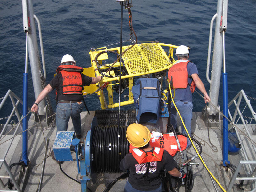
[[[140,78],[132,87],[138,123],[158,123],[161,91],[156,78]]]

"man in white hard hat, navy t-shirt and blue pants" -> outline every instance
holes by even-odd
[[[204,102],[210,102],[210,97],[207,94],[204,84],[198,76],[198,70],[196,65],[188,60],[189,50],[188,47],[180,45],[176,49],[175,55],[178,57],[178,61],[169,69],[168,79],[171,81],[175,89],[175,104],[180,112],[180,115],[184,121],[184,124],[191,135],[191,119],[192,119],[192,93],[195,90],[195,86],[204,94]],[[171,105],[171,124],[177,130],[177,110],[172,102]],[[183,125],[182,133],[187,134]],[[189,148],[191,142],[187,139],[187,148]]]

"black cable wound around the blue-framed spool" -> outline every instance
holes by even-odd
[[[92,140],[94,159],[92,166],[95,173],[123,172],[119,169],[119,164],[129,149],[126,129],[126,126],[120,126],[120,138],[118,138],[117,125],[98,125],[95,127]]]

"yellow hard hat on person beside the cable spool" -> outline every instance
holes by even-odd
[[[127,127],[126,138],[134,147],[143,147],[148,144],[151,134],[147,127],[133,123]]]

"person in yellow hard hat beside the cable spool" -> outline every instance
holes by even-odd
[[[184,171],[178,171],[177,163],[163,148],[151,147],[150,131],[141,124],[131,124],[126,131],[126,138],[134,148],[120,162],[120,169],[130,170],[124,191],[161,192],[160,171],[167,170],[173,177],[185,178]]]

